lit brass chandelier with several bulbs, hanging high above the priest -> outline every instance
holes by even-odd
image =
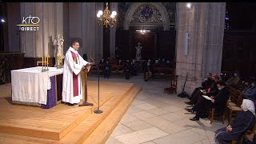
[[[106,2],[106,9],[104,10],[104,13],[102,10],[98,10],[97,18],[98,18],[98,24],[103,26],[114,26],[115,22],[117,21],[115,19],[115,16],[117,15],[116,11],[112,11],[112,14],[110,15],[109,7],[107,6],[108,2]]]

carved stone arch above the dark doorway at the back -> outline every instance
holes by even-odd
[[[134,2],[126,12],[125,22],[124,22],[124,30],[129,30],[131,18],[138,7],[143,5],[145,2]],[[161,2],[148,2],[150,5],[154,6],[157,10],[159,10],[162,16],[162,24],[163,30],[170,30],[170,20],[165,6],[162,5]]]

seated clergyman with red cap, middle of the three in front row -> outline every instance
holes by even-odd
[[[190,102],[186,102],[186,104],[189,104],[189,105],[196,104],[199,101],[199,99],[202,98],[202,94],[208,95],[208,96],[217,95],[218,94],[218,86],[217,86],[216,82],[218,82],[218,79],[219,79],[218,74],[213,74],[211,79],[212,79],[212,83],[210,84],[210,86],[208,86],[208,88],[206,90],[202,89],[202,92],[201,92],[201,90],[198,90],[194,94],[193,98],[191,98]]]

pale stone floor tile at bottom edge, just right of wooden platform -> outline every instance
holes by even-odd
[[[156,138],[162,138],[166,135],[168,135],[166,132],[159,130],[156,127],[151,127],[144,130],[134,131],[129,134],[122,134],[115,138],[122,143],[138,144],[142,142],[148,142]]]

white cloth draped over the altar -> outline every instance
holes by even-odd
[[[50,77],[63,74],[63,68],[49,67],[41,72],[42,66],[11,70],[11,95],[13,101],[34,102],[46,105]]]

